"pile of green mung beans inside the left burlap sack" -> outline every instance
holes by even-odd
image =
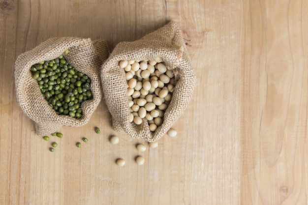
[[[82,117],[81,103],[92,99],[91,79],[64,58],[41,61],[31,66],[32,77],[42,95],[58,115]]]

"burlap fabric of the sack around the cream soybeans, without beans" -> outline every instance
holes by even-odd
[[[173,69],[178,82],[172,100],[165,112],[163,123],[152,133],[148,121],[142,124],[128,122],[129,107],[125,71],[120,68],[120,60],[151,60],[161,57],[169,69]],[[181,30],[174,23],[147,34],[134,42],[119,43],[101,68],[104,100],[112,115],[113,128],[124,130],[133,138],[143,138],[153,142],[161,138],[185,110],[195,86],[195,72],[191,66]]]

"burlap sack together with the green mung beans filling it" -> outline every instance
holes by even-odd
[[[101,100],[100,66],[108,58],[104,40],[51,38],[15,62],[17,101],[40,136],[62,125],[82,126]]]

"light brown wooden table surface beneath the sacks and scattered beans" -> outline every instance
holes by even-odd
[[[307,9],[299,0],[1,0],[0,204],[307,204]],[[178,136],[138,152],[147,144],[113,131],[102,101],[87,125],[63,127],[50,152],[16,101],[17,56],[61,36],[112,49],[168,20],[197,75]],[[89,142],[77,148],[82,137]]]

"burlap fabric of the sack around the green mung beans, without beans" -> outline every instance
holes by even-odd
[[[92,99],[81,105],[83,115],[76,119],[66,115],[57,115],[42,96],[36,80],[32,78],[31,65],[42,61],[56,59],[69,49],[65,55],[67,61],[87,74],[91,79]],[[38,135],[49,135],[59,131],[62,125],[82,126],[92,116],[101,100],[101,83],[99,69],[109,55],[106,41],[82,39],[76,37],[51,38],[31,51],[21,54],[15,62],[15,87],[17,101],[23,112],[35,122]]]

